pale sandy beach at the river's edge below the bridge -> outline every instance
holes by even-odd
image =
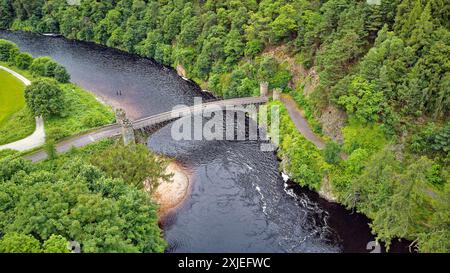
[[[166,168],[167,174],[173,174],[170,182],[161,182],[153,193],[154,200],[159,204],[158,215],[166,216],[177,208],[188,196],[190,174],[177,162],[171,162]]]

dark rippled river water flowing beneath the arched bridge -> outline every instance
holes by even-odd
[[[0,38],[35,57],[51,56],[74,83],[131,119],[205,97],[172,69],[117,50],[22,32],[0,30]],[[148,146],[192,174],[190,196],[161,223],[168,252],[369,252],[364,216],[285,183],[275,154],[256,141],[174,141],[168,125]]]

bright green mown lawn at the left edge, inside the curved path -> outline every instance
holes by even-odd
[[[32,134],[33,115],[25,106],[25,85],[16,77],[0,70],[0,145]]]

